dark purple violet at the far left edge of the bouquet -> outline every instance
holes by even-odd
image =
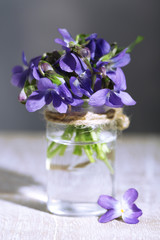
[[[41,56],[33,58],[27,63],[26,56],[24,52],[22,53],[22,62],[27,67],[24,69],[22,66],[15,66],[12,69],[12,79],[11,83],[19,88],[23,88],[24,84],[29,77],[31,79],[35,78],[39,80],[40,75],[38,73],[38,63],[41,59]]]

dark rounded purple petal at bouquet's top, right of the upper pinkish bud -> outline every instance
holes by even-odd
[[[104,39],[99,38],[96,42],[96,57],[100,58],[103,55],[109,53],[110,45]]]

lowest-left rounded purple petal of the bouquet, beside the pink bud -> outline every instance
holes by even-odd
[[[26,109],[28,112],[35,112],[41,109],[45,104],[44,92],[35,91],[27,99]]]

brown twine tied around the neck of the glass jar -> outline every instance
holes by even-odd
[[[109,108],[105,113],[71,112],[58,113],[51,110],[45,110],[45,119],[50,122],[63,123],[67,125],[107,125],[110,129],[124,130],[129,127],[130,120],[123,113],[123,108]]]

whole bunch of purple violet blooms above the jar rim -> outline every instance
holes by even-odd
[[[24,67],[12,70],[12,84],[22,88],[19,101],[29,112],[53,104],[60,113],[68,106],[83,104],[89,99],[92,106],[123,107],[135,105],[126,92],[122,67],[130,62],[128,48],[110,45],[96,33],[80,34],[74,40],[66,29],[59,29],[62,39],[55,42],[62,51],[45,53],[28,63],[22,54]]]

